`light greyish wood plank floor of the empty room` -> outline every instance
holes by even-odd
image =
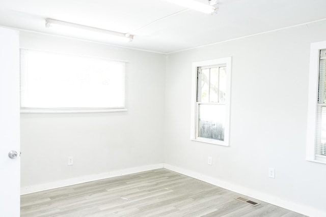
[[[21,196],[21,216],[304,216],[157,169]]]

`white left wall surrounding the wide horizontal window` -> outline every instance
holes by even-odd
[[[29,32],[20,46],[128,61],[126,112],[21,114],[22,192],[163,162],[165,55]]]

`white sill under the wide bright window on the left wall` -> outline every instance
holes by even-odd
[[[121,111],[127,111],[127,109],[20,109],[20,113],[100,113]]]

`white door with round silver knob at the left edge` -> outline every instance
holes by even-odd
[[[20,215],[19,122],[19,32],[0,27],[0,216]]]

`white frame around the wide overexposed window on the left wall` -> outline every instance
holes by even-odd
[[[45,51],[45,50],[37,50],[37,49],[29,49],[29,48],[20,48],[21,52],[44,52],[44,53],[53,53],[53,54],[62,54],[67,56],[77,56],[83,58],[90,58],[90,59],[101,59],[109,62],[118,62],[124,64],[124,106],[123,107],[48,107],[48,108],[41,108],[41,107],[23,107],[20,104],[20,113],[98,113],[98,112],[120,112],[120,111],[127,111],[126,103],[127,103],[127,61],[124,60],[117,60],[117,59],[109,59],[103,57],[95,57],[95,56],[85,56],[85,55],[78,55],[78,54],[68,54],[68,53],[59,53],[59,52],[52,52],[52,51]],[[21,54],[20,54],[21,55]],[[20,69],[20,77],[22,76],[22,71]],[[26,76],[26,75],[24,75]],[[20,78],[20,82],[22,82]],[[22,91],[22,89],[20,90]],[[21,96],[20,96],[21,100]]]

